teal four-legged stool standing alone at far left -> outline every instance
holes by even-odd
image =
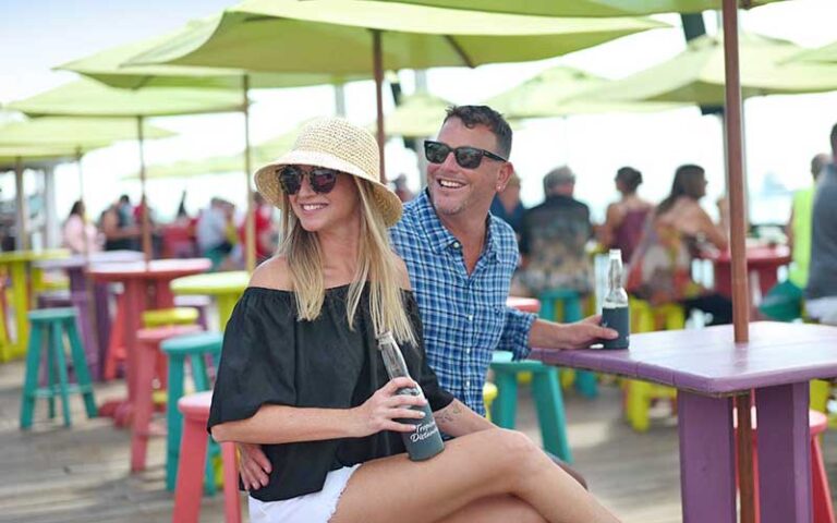
[[[84,357],[84,346],[78,337],[76,312],[73,307],[44,308],[28,313],[32,336],[26,350],[26,376],[21,401],[21,428],[32,427],[35,400],[47,398],[49,417],[56,416],[57,396],[61,397],[64,426],[72,425],[70,416],[70,394],[81,393],[87,417],[96,417],[96,401],[93,398],[93,384]],[[75,372],[76,382],[71,384],[68,373],[64,336],[70,342],[70,357]],[[46,342],[47,385],[38,387],[38,370]]]

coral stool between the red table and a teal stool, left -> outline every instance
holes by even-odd
[[[142,329],[136,333],[138,354],[136,357],[136,397],[131,427],[131,472],[145,470],[148,449],[151,413],[154,412],[154,375],[157,362],[161,357],[160,343],[181,335],[198,332],[196,325],[178,325]]]

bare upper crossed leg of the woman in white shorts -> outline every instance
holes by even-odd
[[[364,463],[352,475],[332,523],[435,522],[482,498],[512,495],[553,523],[618,521],[526,436],[481,430],[456,438],[432,460],[405,454]]]

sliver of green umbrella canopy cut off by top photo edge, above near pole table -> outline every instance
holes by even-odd
[[[541,16],[635,16],[654,13],[700,13],[719,10],[721,0],[383,0],[437,8],[481,10]],[[739,0],[738,7],[750,9],[780,0]]]

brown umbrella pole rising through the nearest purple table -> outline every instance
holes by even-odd
[[[735,341],[749,341],[750,299],[744,244],[744,180],[741,136],[741,77],[738,59],[738,5],[724,0],[724,68],[726,77],[725,123],[727,135],[727,177],[730,210],[730,259],[732,264],[732,321]],[[738,412],[738,473],[742,523],[755,521],[753,478],[751,394],[736,397]]]

